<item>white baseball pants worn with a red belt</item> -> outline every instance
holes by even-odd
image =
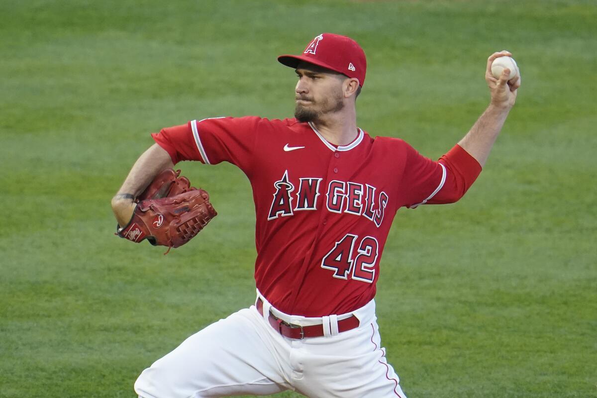
[[[139,397],[261,396],[293,390],[313,398],[405,398],[380,345],[373,300],[352,313],[360,326],[340,334],[337,319],[350,314],[290,316],[261,300],[264,316],[255,306],[233,313],[145,369],[135,383]],[[330,327],[324,327],[324,337],[293,340],[264,319],[269,308],[288,323],[329,322]]]

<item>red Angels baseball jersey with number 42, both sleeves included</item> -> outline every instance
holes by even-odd
[[[296,119],[211,118],[152,134],[174,163],[233,163],[256,210],[257,289],[278,310],[347,313],[376,294],[396,211],[458,200],[481,172],[455,146],[438,161],[358,130],[345,146]]]

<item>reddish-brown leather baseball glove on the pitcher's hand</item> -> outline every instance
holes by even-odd
[[[166,169],[136,199],[137,206],[127,226],[118,226],[120,237],[153,246],[177,248],[197,235],[217,212],[205,190],[190,186],[180,170]]]

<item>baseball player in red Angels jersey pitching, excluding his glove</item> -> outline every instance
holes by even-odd
[[[456,202],[481,172],[520,86],[518,77],[507,81],[507,69],[491,75],[503,55],[510,53],[487,60],[487,110],[439,161],[357,127],[365,53],[331,33],[300,55],[278,57],[296,71],[294,118],[205,118],[152,134],[156,143],[112,200],[119,224],[163,169],[188,160],[233,163],[253,188],[257,298],[145,369],[136,393],[404,398],[376,322],[381,253],[399,208]]]

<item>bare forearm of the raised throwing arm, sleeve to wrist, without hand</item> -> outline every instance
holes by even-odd
[[[506,121],[510,107],[498,107],[490,104],[475,122],[470,131],[460,140],[460,145],[479,164],[485,165],[497,136]]]

